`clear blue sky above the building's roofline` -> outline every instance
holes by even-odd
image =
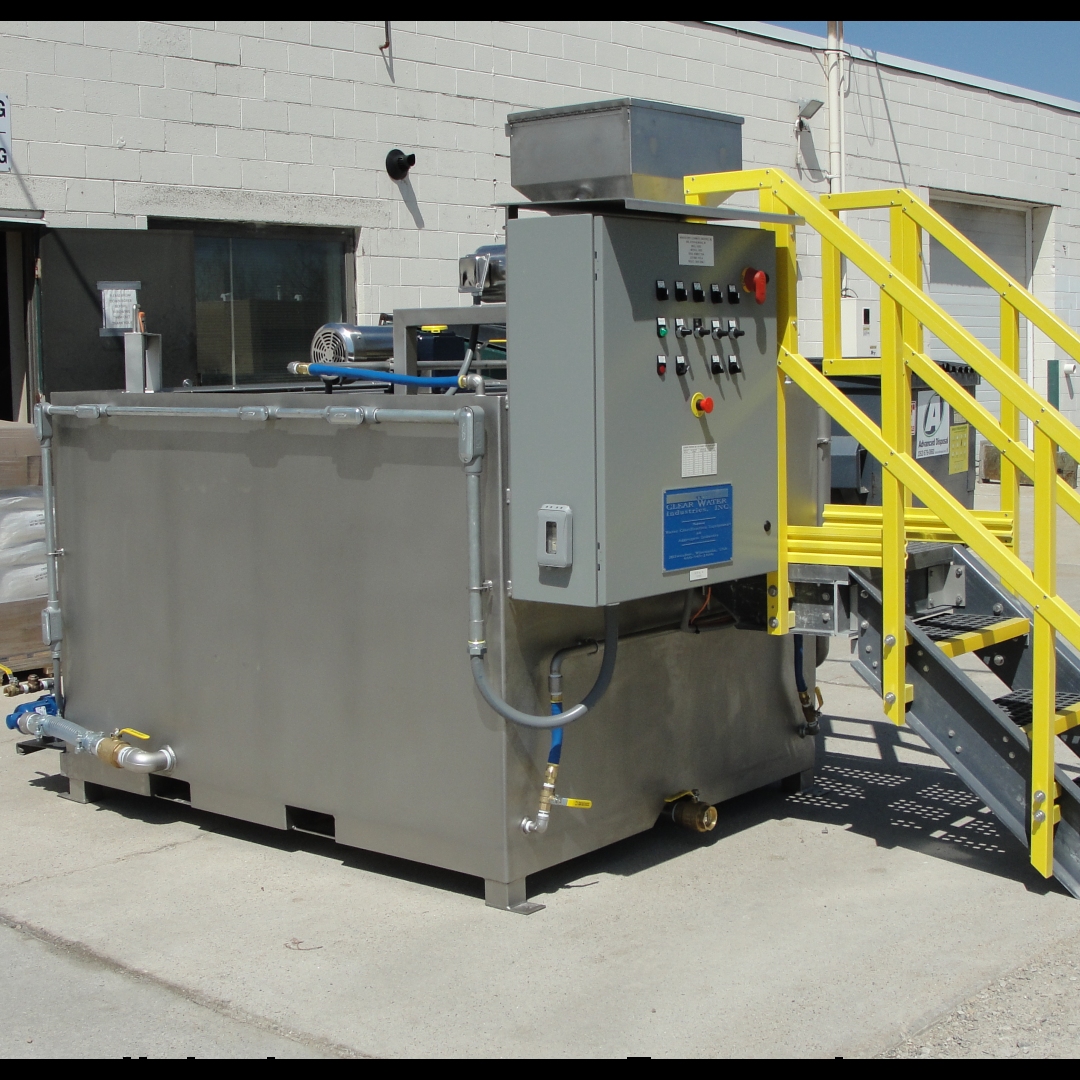
[[[825,36],[824,23],[772,23]],[[1080,102],[1080,22],[846,22],[851,44]]]

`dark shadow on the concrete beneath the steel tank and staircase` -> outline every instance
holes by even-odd
[[[666,820],[651,829],[529,877],[529,894],[552,894],[582,887],[597,874],[629,876],[723,842],[767,821],[797,819],[824,827],[851,829],[879,847],[904,847],[973,870],[1022,882],[1035,893],[1062,891],[1030,866],[1026,850],[931,752],[915,745],[912,732],[891,724],[826,716],[818,737],[813,785],[785,794],[779,784],[721,804],[719,822],[708,834],[689,833]],[[920,758],[924,759],[920,760]],[[29,782],[66,792],[67,779],[39,772]],[[185,802],[100,789],[102,812],[150,824],[190,822],[208,833],[261,843],[279,851],[308,851],[369,874],[483,897],[480,878],[407,859],[345,848],[332,839],[282,832],[197,810]]]

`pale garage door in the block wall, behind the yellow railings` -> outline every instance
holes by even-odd
[[[1027,214],[1024,211],[976,206],[944,199],[932,199],[930,205],[1016,281],[1022,285],[1028,284]],[[983,345],[1000,355],[1001,309],[998,294],[933,239],[930,241],[929,278],[931,297]],[[933,335],[927,335],[926,345],[934,360],[956,361],[951,350],[946,349]],[[1026,379],[1025,320],[1021,320],[1020,357],[1021,378]],[[1000,419],[998,392],[984,382],[975,394]],[[1022,431],[1022,436],[1024,434]]]

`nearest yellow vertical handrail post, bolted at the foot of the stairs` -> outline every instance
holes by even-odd
[[[1053,441],[1035,433],[1035,583],[1045,594],[1057,593],[1057,460]],[[1035,605],[1031,654],[1031,865],[1043,876],[1054,873],[1054,746],[1057,738],[1057,658],[1054,627]]]

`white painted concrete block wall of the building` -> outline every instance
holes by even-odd
[[[354,227],[357,309],[457,303],[456,260],[501,239],[508,112],[616,96],[746,118],[748,167],[827,180],[821,54],[699,23],[2,23],[15,171],[0,207],[57,227],[151,216]],[[383,161],[415,152],[395,184]],[[929,76],[849,66],[849,188],[905,185],[1048,207],[1039,295],[1080,328],[1080,114]],[[816,167],[815,167],[816,166]],[[883,215],[851,215],[888,251]],[[818,244],[800,230],[800,330],[821,348]],[[1052,254],[1051,254],[1052,253]],[[1036,342],[1039,361],[1053,355]],[[1043,374],[1044,380],[1044,374]],[[1063,390],[1063,404],[1066,394]]]

